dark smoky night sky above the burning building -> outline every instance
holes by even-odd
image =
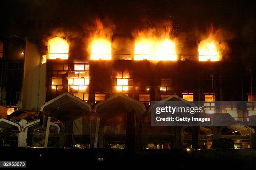
[[[99,17],[104,24],[114,25],[114,36],[124,37],[136,29],[171,20],[175,36],[189,44],[198,42],[212,23],[222,30],[233,48],[231,53],[243,50],[244,57],[255,60],[255,9],[253,0],[7,0],[1,1],[0,40],[15,34],[40,44],[56,28],[83,37],[85,27]]]

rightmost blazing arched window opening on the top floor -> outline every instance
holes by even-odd
[[[202,40],[198,45],[199,61],[219,61],[219,43],[212,38]]]

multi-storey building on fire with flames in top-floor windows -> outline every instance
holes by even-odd
[[[79,61],[62,37],[48,40],[46,55],[28,40],[21,42],[19,54],[24,56],[18,63],[10,62],[4,50],[1,105],[23,109],[27,117],[18,119],[14,112],[7,120],[1,113],[0,145],[124,148],[133,136],[138,148],[191,149],[210,148],[212,140],[231,137],[235,148],[255,148],[256,133],[250,126],[256,116],[255,104],[250,105],[255,88],[247,69],[253,72],[254,63],[222,60],[219,42],[210,37],[201,40],[198,54],[184,60],[186,55],[167,35],[140,33],[131,45],[133,53],[115,54],[115,37],[98,31],[90,38],[89,53]],[[117,60],[115,55],[129,55],[123,58],[130,60]],[[8,90],[9,78],[13,83],[15,75],[20,75],[15,82],[20,88]],[[151,101],[160,100],[203,101],[204,114],[228,117],[233,125],[151,126]],[[248,105],[243,110],[236,105],[215,107],[215,101],[225,100]],[[13,133],[13,140],[6,140],[3,132]]]

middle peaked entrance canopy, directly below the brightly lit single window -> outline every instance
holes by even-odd
[[[123,110],[125,112],[131,112],[134,110],[137,117],[141,117],[141,115],[146,112],[146,107],[141,102],[119,93],[97,103],[94,110],[98,115],[102,115],[104,113],[110,114],[116,110]]]

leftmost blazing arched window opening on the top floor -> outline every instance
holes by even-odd
[[[61,60],[69,59],[69,43],[61,37],[54,37],[48,41],[48,58]]]

